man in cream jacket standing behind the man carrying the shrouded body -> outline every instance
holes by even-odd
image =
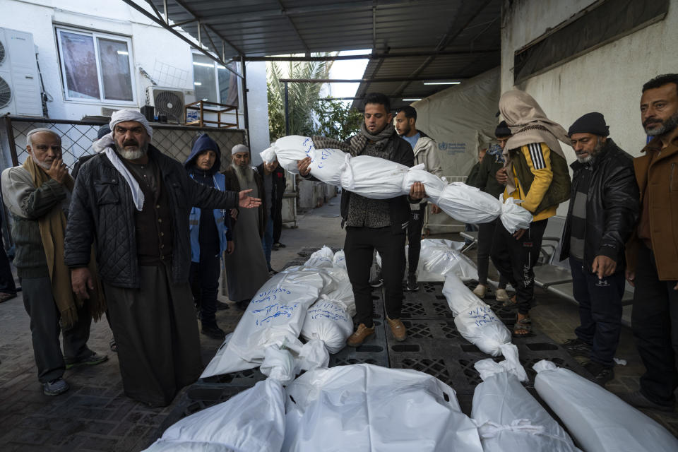
[[[424,169],[443,177],[443,169],[437,155],[436,141],[426,133],[417,130],[417,110],[408,105],[398,109],[396,114],[396,132],[405,141],[412,145],[415,153],[415,166],[424,164]],[[417,266],[419,254],[422,250],[422,228],[424,227],[424,213],[426,213],[426,198],[419,203],[410,204],[410,224],[408,225],[408,290],[419,290],[417,284]]]

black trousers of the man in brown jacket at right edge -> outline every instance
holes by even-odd
[[[641,393],[662,405],[674,403],[674,391],[678,387],[678,290],[673,290],[675,285],[676,281],[659,280],[653,251],[641,244],[631,326],[646,369],[641,376]]]

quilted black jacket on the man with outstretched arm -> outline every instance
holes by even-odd
[[[173,213],[172,280],[175,284],[184,283],[188,280],[191,266],[191,207],[237,207],[238,193],[198,184],[189,177],[181,163],[162,155],[153,146],[149,146],[148,155],[160,167]],[[97,265],[102,280],[117,287],[139,287],[131,191],[103,153],[81,167],[73,189],[66,225],[66,265],[70,268],[87,266],[93,241],[96,242]]]

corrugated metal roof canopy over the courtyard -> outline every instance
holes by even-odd
[[[147,0],[164,12],[163,0]],[[142,0],[136,0],[142,4]],[[470,78],[499,65],[501,0],[167,0],[169,19],[226,59],[372,49],[422,52],[371,59],[362,78]],[[192,21],[191,21],[192,20]],[[210,41],[211,38],[211,41]],[[222,44],[223,43],[223,44]],[[433,54],[432,52],[463,52]],[[355,78],[360,78],[356,74]],[[422,97],[447,88],[422,81],[361,83],[357,97],[380,91]],[[362,107],[361,102],[354,103]]]

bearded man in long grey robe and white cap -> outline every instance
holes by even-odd
[[[226,189],[252,190],[252,196],[264,198],[263,180],[250,165],[249,148],[234,145],[231,150],[231,167],[223,173]],[[246,309],[259,288],[268,280],[268,266],[263,254],[261,238],[266,229],[266,201],[251,210],[232,209],[233,241],[235,251],[226,258],[228,298],[239,309]]]

